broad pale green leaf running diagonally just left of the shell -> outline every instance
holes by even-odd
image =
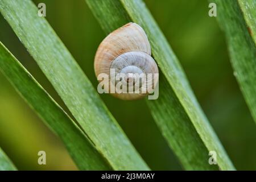
[[[30,0],[1,0],[0,11],[113,169],[147,170],[71,53]],[[73,141],[76,142],[76,141]]]

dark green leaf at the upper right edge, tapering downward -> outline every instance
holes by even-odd
[[[243,96],[249,106],[256,122],[256,47],[250,32],[256,32],[255,24],[251,22],[247,29],[245,19],[237,1],[214,1],[217,4],[217,19],[226,34],[229,47],[230,60],[234,69],[234,76],[242,90]],[[253,18],[255,23],[255,1],[241,2],[245,8],[244,14]],[[248,7],[251,5],[251,7]],[[254,9],[254,13],[251,12]],[[252,13],[252,14],[250,14]],[[250,14],[250,15],[249,15]],[[251,21],[251,20],[248,20]],[[253,33],[253,34],[254,34]]]

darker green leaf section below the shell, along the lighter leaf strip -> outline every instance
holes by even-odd
[[[159,82],[159,98],[147,100],[147,104],[181,164],[187,170],[217,170],[217,165],[209,165],[209,151],[162,74]]]

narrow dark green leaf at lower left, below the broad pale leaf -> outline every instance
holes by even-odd
[[[56,133],[81,170],[111,169],[76,123],[0,42],[0,71],[18,93]]]

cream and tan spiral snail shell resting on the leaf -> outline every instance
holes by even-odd
[[[102,74],[110,76],[110,86],[103,86],[105,93],[122,100],[143,98],[154,92],[158,84],[158,65],[151,57],[146,33],[136,23],[127,23],[102,40],[94,59],[94,71],[99,81],[106,78]]]

